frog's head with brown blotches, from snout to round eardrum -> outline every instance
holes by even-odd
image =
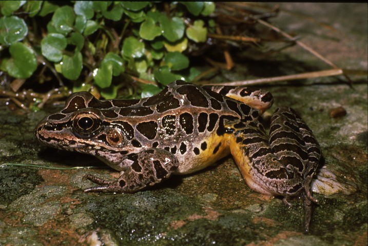
[[[94,155],[130,152],[134,130],[118,121],[110,101],[100,101],[88,92],[71,94],[60,112],[41,120],[34,129],[37,140],[64,150]],[[99,153],[96,153],[99,152]]]

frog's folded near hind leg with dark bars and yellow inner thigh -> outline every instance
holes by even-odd
[[[286,198],[303,194],[305,230],[312,214],[310,184],[321,150],[311,129],[290,108],[275,111],[269,137],[254,122],[237,129],[230,141],[233,154],[248,185],[258,192]],[[287,200],[287,199],[286,199]]]

